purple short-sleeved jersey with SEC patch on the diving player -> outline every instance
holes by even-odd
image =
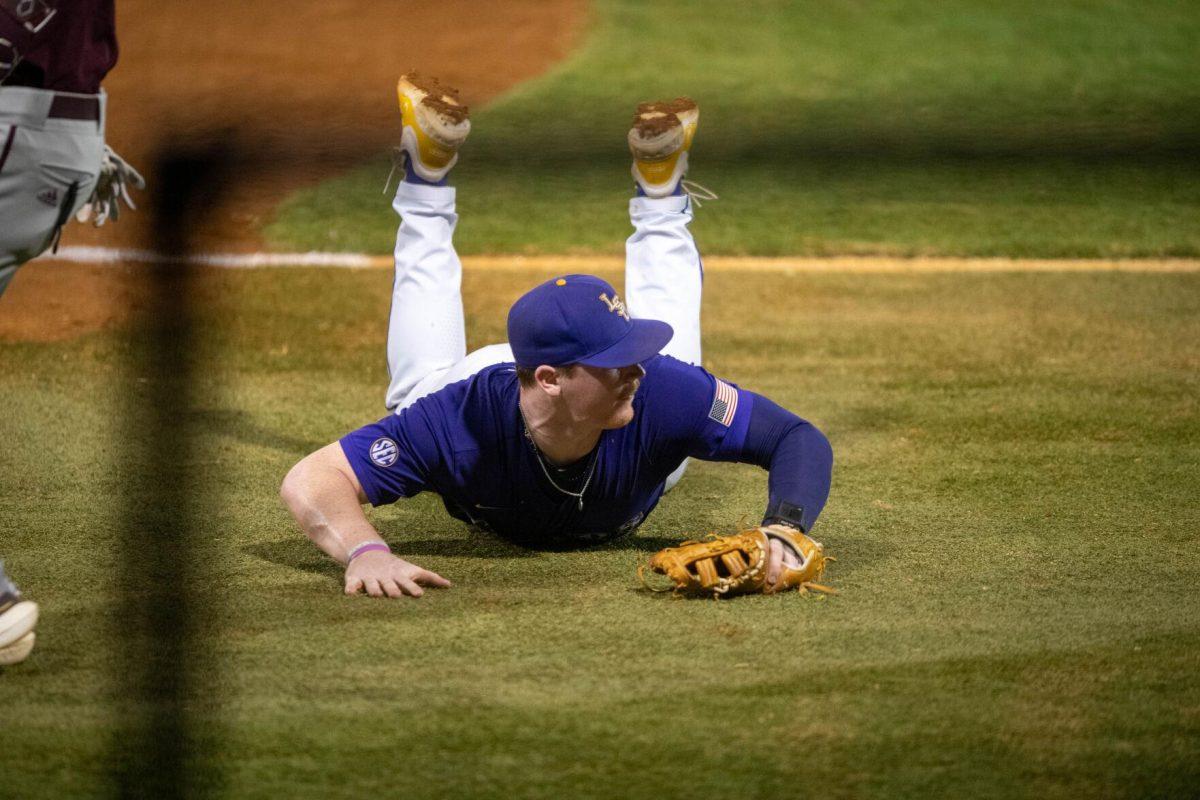
[[[512,363],[347,434],[342,450],[372,505],[436,492],[458,519],[522,543],[604,541],[642,523],[684,458],[740,461],[746,435],[750,392],[671,356],[643,366],[634,420],[601,434],[582,509],[554,487],[524,435]]]

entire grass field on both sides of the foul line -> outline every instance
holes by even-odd
[[[457,243],[620,252],[632,106],[688,92],[692,178],[721,196],[707,254],[1198,257],[1198,40],[1169,0],[598,0],[576,55],[476,109]],[[389,252],[386,172],[295,194],[269,242]],[[469,271],[472,345],[544,277]],[[1196,796],[1200,272],[712,271],[706,366],[835,451],[814,534],[841,594],[730,602],[635,575],[761,513],[761,470],[695,462],[637,536],[584,552],[428,495],[374,511],[456,585],[343,597],[277,489],[383,414],[390,284],[200,271],[190,447],[145,428],[176,377],[136,366],[144,331],[0,342],[0,557],[42,606],[0,668],[0,799],[112,796],[143,763],[131,720],[167,706],[138,681],[169,654],[121,634],[172,604],[152,537],[182,515],[197,796]],[[180,506],[145,507],[163,489]]]

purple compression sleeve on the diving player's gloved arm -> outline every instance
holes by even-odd
[[[811,422],[749,393],[754,403],[738,461],[770,471],[763,523],[782,522],[808,533],[829,498],[833,449]]]

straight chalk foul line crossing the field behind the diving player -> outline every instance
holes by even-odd
[[[228,270],[262,267],[391,269],[391,255],[365,253],[194,253],[166,257],[148,249],[116,247],[59,248],[43,261],[73,264],[187,263]],[[469,270],[541,270],[545,272],[605,272],[622,270],[619,255],[464,255]],[[709,272],[1200,272],[1200,259],[1012,259],[900,258],[895,255],[834,255],[763,258],[712,255]]]

